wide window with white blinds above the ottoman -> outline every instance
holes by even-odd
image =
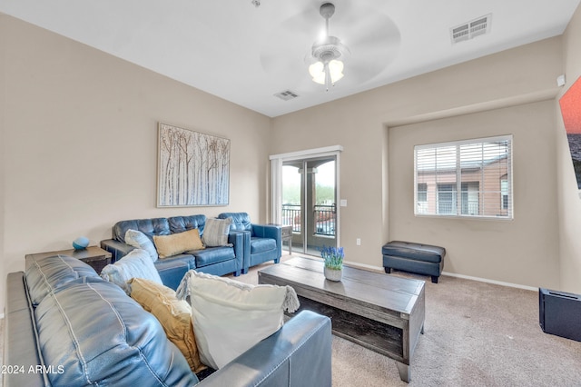
[[[512,136],[417,145],[416,215],[512,219]]]

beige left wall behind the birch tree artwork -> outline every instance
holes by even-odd
[[[5,274],[23,270],[26,253],[79,235],[98,244],[119,220],[266,220],[268,117],[6,15],[0,36],[1,305]],[[228,207],[155,207],[159,121],[231,139]]]

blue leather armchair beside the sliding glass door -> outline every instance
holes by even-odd
[[[245,232],[242,252],[242,273],[257,264],[273,260],[281,262],[281,226],[254,224],[248,213],[220,213],[220,219],[231,218],[231,232]]]

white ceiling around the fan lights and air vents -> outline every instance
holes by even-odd
[[[0,0],[0,12],[274,117],[561,35],[580,1],[332,1],[330,35],[351,55],[329,92],[305,63],[323,1]],[[487,35],[452,45],[451,27],[488,14]],[[274,96],[286,90],[300,96]]]

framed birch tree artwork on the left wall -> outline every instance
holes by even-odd
[[[230,140],[159,124],[157,206],[227,205]]]

